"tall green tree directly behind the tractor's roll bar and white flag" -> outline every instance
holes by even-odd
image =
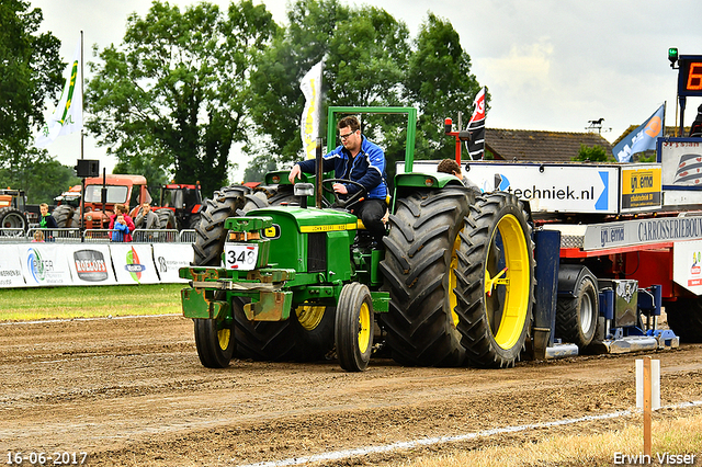
[[[407,26],[375,7],[349,8],[338,0],[298,0],[251,75],[251,115],[270,138],[268,157],[279,163],[302,155],[299,118],[305,98],[299,80],[325,58],[322,94],[333,105],[399,105],[403,70],[409,54]],[[322,104],[321,127],[326,127]],[[365,117],[364,132],[383,137],[376,117]],[[378,141],[380,143],[380,141]],[[335,146],[330,141],[329,146]],[[251,147],[252,152],[261,152]],[[257,158],[264,163],[265,155]]]

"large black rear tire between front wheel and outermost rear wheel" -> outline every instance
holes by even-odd
[[[454,312],[456,246],[472,195],[467,189],[426,190],[397,200],[384,238],[380,320],[393,358],[403,365],[460,366],[465,360]]]

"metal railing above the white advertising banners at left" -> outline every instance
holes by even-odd
[[[22,228],[0,228],[0,242],[59,242],[59,243],[110,243],[113,229],[88,229],[80,234],[80,229],[41,229],[31,227],[26,231]],[[195,230],[176,229],[136,229],[132,232],[132,241],[136,243],[194,243]]]

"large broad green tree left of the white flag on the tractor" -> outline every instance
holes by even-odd
[[[91,64],[88,128],[126,167],[152,160],[212,193],[227,182],[231,145],[247,140],[248,75],[276,29],[250,0],[225,14],[207,2],[181,12],[154,1],[145,18],[128,18],[121,48]]]

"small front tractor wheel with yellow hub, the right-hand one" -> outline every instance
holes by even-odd
[[[373,303],[365,285],[353,282],[341,289],[335,340],[343,369],[362,372],[367,368],[373,350]]]

